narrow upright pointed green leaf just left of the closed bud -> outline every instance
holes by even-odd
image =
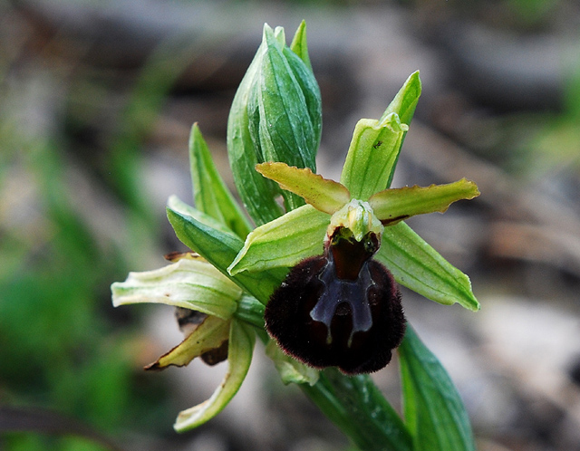
[[[208,144],[203,139],[197,123],[193,124],[189,136],[189,164],[195,205],[198,210],[217,219],[240,238],[246,238],[252,226],[227,189],[226,183],[219,176]]]

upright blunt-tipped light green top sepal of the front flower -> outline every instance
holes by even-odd
[[[387,187],[403,136],[404,131],[391,130],[378,120],[358,121],[341,175],[353,198],[367,200]]]

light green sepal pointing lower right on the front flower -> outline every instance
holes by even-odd
[[[384,264],[395,280],[431,301],[479,310],[469,277],[449,264],[405,223],[385,227],[382,245],[375,258]]]

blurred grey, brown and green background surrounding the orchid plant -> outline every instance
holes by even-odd
[[[180,409],[225,365],[146,373],[181,339],[172,309],[113,309],[110,284],[183,250],[198,121],[231,186],[227,113],[262,26],[308,24],[323,94],[318,172],[420,70],[393,187],[478,183],[410,225],[469,273],[478,313],[404,291],[457,384],[478,449],[580,450],[580,4],[576,0],[0,0],[0,449],[345,448],[258,346],[215,420]],[[400,407],[396,360],[375,375]],[[450,450],[452,451],[452,450]]]

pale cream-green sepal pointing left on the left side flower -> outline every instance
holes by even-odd
[[[143,273],[129,273],[111,285],[115,307],[157,302],[197,310],[227,320],[236,312],[242,290],[207,262],[181,259]]]

